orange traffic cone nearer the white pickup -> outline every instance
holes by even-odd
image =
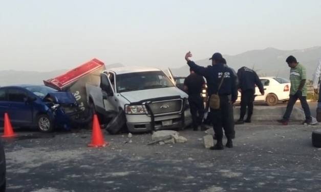
[[[98,117],[96,114],[94,114],[92,142],[88,145],[88,147],[98,148],[98,147],[106,147],[106,146],[109,146],[109,142],[104,141],[103,135],[100,130]]]

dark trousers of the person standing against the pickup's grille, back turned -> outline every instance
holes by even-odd
[[[193,121],[193,128],[197,129],[199,125],[203,123],[204,118],[204,103],[200,94],[188,95],[188,102],[190,108],[190,114]]]

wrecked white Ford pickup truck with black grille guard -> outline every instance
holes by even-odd
[[[110,124],[123,124],[129,132],[179,129],[191,124],[188,95],[157,68],[104,70],[100,86],[87,84],[86,90],[89,105],[96,113],[118,113],[123,120]]]

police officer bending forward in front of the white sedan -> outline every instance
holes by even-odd
[[[247,118],[245,123],[251,123],[251,116],[253,114],[253,102],[255,94],[255,85],[259,87],[260,92],[264,95],[264,87],[259,79],[259,76],[254,70],[248,67],[241,67],[238,70],[239,88],[241,90],[241,112],[240,119],[236,124],[244,124],[244,116],[247,107]]]

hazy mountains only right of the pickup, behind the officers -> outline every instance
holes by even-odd
[[[285,60],[290,55],[296,57],[297,61],[306,67],[307,77],[312,79],[312,75],[321,58],[321,46],[292,51],[267,48],[234,56],[223,55],[223,57],[226,59],[227,65],[236,71],[242,66],[247,66],[254,69],[259,76],[278,76],[289,79],[290,69]],[[201,66],[208,66],[211,65],[211,61],[208,59],[195,62]],[[186,76],[189,74],[189,67],[186,64],[180,68],[173,68],[172,73],[174,76]]]

